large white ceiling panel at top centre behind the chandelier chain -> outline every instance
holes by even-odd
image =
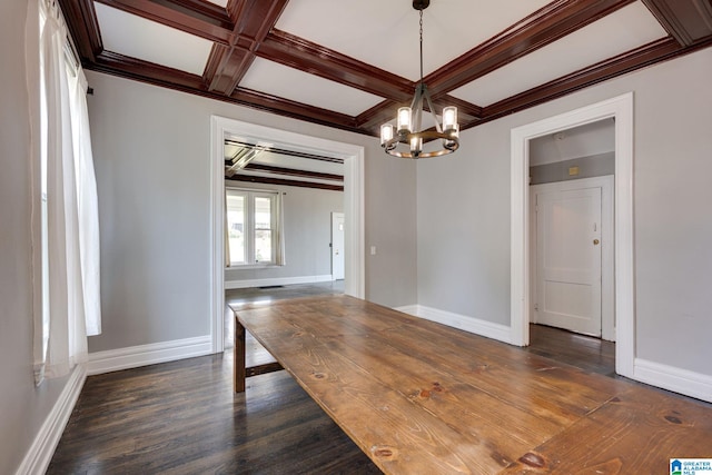
[[[423,13],[423,68],[428,75],[548,0],[437,0]],[[317,19],[318,20],[315,20]],[[298,0],[276,28],[416,81],[419,16],[412,1]]]

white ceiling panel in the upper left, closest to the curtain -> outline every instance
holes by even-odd
[[[95,2],[105,49],[202,76],[212,42]]]

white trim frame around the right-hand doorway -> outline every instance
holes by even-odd
[[[511,342],[530,344],[531,320],[531,141],[601,120],[614,122],[614,308],[615,368],[632,377],[635,359],[633,286],[633,95],[626,93],[512,130]]]

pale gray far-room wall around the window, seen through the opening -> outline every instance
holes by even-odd
[[[314,277],[332,274],[332,212],[344,210],[344,192],[285,187],[275,185],[251,185],[226,181],[234,188],[257,188],[278,190],[286,195],[285,210],[285,255],[287,264],[263,269],[228,268],[225,281],[271,279],[287,277]]]

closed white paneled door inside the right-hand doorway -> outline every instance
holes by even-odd
[[[536,320],[601,336],[601,188],[536,194]]]

